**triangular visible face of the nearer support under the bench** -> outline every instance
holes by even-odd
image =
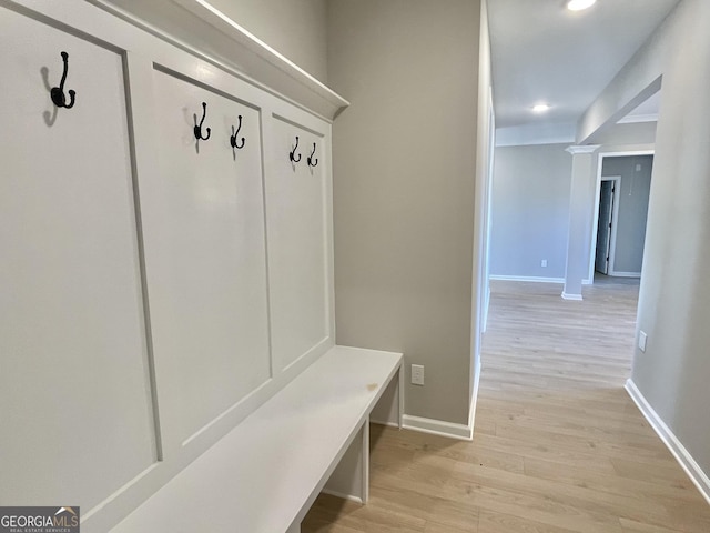
[[[361,428],[323,492],[367,503],[369,485],[369,419]]]

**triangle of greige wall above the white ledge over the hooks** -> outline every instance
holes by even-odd
[[[210,3],[327,83],[326,0],[210,0]]]

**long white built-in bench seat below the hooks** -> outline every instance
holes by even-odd
[[[331,349],[112,531],[300,531],[351,445],[362,449],[367,467],[362,443],[369,413],[402,373],[402,360],[399,353]]]

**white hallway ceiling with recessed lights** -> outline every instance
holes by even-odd
[[[576,123],[679,0],[488,0],[498,128]],[[551,109],[535,114],[531,107]]]

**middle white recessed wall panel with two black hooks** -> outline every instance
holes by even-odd
[[[270,379],[260,112],[158,70],[154,102],[160,172],[141,208],[161,415],[184,442]]]

